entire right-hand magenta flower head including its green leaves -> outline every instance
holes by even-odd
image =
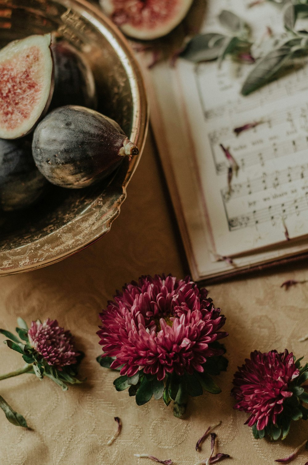
[[[307,419],[301,404],[308,396],[300,385],[308,379],[308,364],[301,367],[300,360],[287,349],[254,351],[234,374],[234,408],[250,414],[245,424],[254,427],[255,437],[285,438],[291,419]]]

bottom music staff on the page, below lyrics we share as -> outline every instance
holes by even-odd
[[[306,210],[308,210],[308,192],[305,193],[305,196],[299,197],[298,199],[288,200],[274,206],[270,205],[267,208],[254,210],[232,218],[229,218],[227,214],[228,227],[229,231],[236,231],[269,221],[275,226],[277,220],[283,222],[288,216],[294,214],[298,216],[301,212]]]

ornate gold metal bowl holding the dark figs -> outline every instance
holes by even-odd
[[[83,0],[0,0],[0,46],[56,31],[92,67],[98,110],[116,120],[140,155],[113,176],[86,189],[52,186],[31,209],[0,213],[0,276],[47,266],[106,234],[119,215],[126,186],[147,133],[147,98],[139,67],[123,35],[97,7]]]

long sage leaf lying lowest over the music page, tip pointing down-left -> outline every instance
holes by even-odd
[[[252,71],[248,74],[241,88],[241,93],[248,95],[267,84],[287,64],[288,60],[292,57],[292,53],[293,47],[286,43],[257,61]]]

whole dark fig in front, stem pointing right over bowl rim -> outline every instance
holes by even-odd
[[[32,153],[48,181],[79,189],[106,178],[125,156],[139,151],[114,120],[67,105],[48,113],[36,127]]]

